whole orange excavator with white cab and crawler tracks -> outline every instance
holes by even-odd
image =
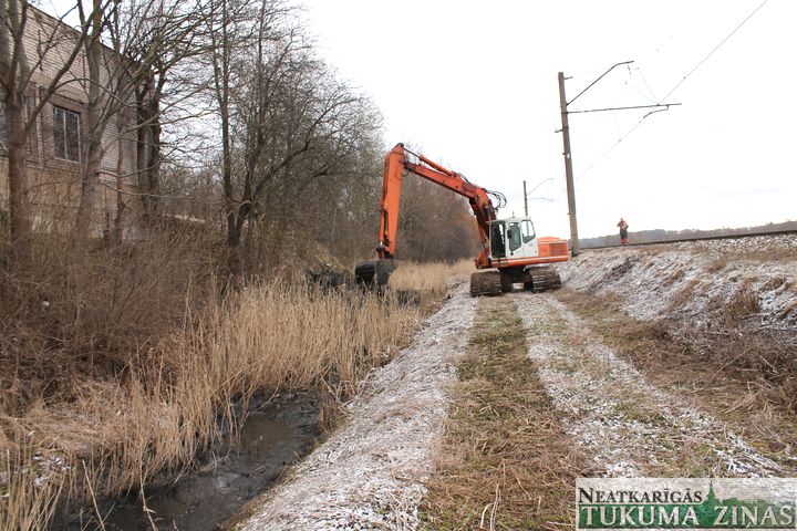
[[[482,271],[470,275],[473,296],[499,295],[513,291],[514,284],[524,284],[525,289],[535,292],[561,285],[559,273],[546,264],[568,259],[567,241],[538,238],[530,218],[497,219],[496,208],[506,204],[501,194],[469,183],[462,174],[410,152],[403,144],[397,144],[385,157],[376,246],[379,259],[356,264],[354,277],[359,283],[384,287],[396,268],[398,200],[405,173],[418,175],[468,199],[482,239],[482,249],[475,260],[476,268]],[[493,198],[497,206],[493,205]]]

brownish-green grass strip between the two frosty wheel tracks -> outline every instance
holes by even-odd
[[[482,299],[424,503],[426,529],[571,529],[572,489],[589,465],[526,355],[509,299]]]

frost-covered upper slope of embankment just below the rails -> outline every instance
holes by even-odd
[[[636,320],[676,319],[685,333],[732,324],[794,335],[795,257],[797,236],[780,235],[594,250],[558,270],[569,288],[620,298]]]

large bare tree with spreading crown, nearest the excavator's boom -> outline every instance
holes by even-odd
[[[358,152],[376,136],[379,116],[315,58],[281,2],[219,0],[211,20],[228,269],[237,277],[245,243],[259,256],[279,257],[297,202],[319,181],[353,173]]]

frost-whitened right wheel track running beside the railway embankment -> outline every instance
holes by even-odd
[[[712,415],[648,383],[555,294],[510,296],[566,429],[607,476],[794,475]]]

